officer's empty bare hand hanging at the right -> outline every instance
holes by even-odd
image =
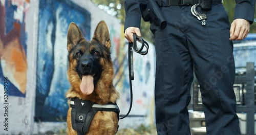
[[[230,28],[229,40],[242,40],[244,39],[250,30],[250,22],[246,19],[233,20]]]

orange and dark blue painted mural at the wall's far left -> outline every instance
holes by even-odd
[[[8,77],[9,95],[19,97],[26,95],[28,5],[28,1],[2,1],[0,5],[0,83],[3,85],[4,77]]]

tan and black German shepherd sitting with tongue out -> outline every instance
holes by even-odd
[[[84,39],[78,26],[71,22],[67,38],[68,79],[71,87],[66,93],[66,97],[91,101],[100,105],[116,103],[119,93],[113,85],[114,68],[110,55],[111,41],[105,22],[103,20],[99,22],[91,41]],[[78,134],[72,128],[70,102],[67,133]],[[86,134],[115,134],[117,128],[117,113],[97,111]]]

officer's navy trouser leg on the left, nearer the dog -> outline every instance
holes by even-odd
[[[179,6],[162,8],[168,22],[180,22]],[[167,16],[172,17],[167,17]],[[156,44],[156,126],[161,134],[190,134],[187,105],[193,81],[193,63],[185,34],[168,23],[165,29],[151,25]]]

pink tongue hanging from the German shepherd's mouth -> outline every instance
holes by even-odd
[[[93,93],[94,84],[93,84],[93,76],[86,75],[82,76],[82,82],[80,85],[81,92],[85,95],[90,95]]]

